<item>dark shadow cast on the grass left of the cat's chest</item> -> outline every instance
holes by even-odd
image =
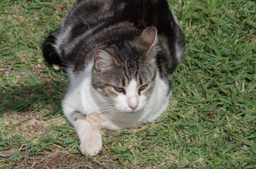
[[[50,81],[32,86],[9,87],[0,92],[0,116],[7,112],[38,111],[47,108],[52,115],[61,112],[64,82]]]

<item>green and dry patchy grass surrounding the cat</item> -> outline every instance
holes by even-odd
[[[42,42],[74,1],[0,2],[0,168],[256,168],[255,2],[170,1],[187,39],[170,108],[155,123],[103,130],[81,156],[62,115],[64,73]]]

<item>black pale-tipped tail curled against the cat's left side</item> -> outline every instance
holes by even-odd
[[[52,65],[55,70],[64,70],[65,66],[63,64],[62,57],[54,46],[54,44],[56,44],[56,37],[54,37],[53,34],[54,33],[45,40],[45,43],[42,46],[42,54],[45,61]]]

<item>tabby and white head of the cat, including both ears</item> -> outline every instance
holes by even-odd
[[[159,50],[155,27],[146,27],[133,41],[115,44],[95,52],[93,87],[112,111],[141,111],[153,87]]]

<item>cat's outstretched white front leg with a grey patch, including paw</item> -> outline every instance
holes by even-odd
[[[63,106],[64,115],[69,120],[71,125],[74,126],[81,142],[80,149],[82,154],[87,156],[95,156],[103,147],[100,129],[92,125],[86,120],[86,115],[75,111],[68,105]]]

